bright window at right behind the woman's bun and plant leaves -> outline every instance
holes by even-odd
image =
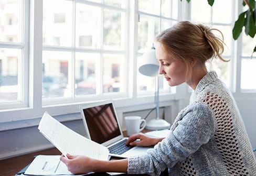
[[[254,79],[252,76],[256,74],[254,71],[256,62],[255,56],[251,57],[255,38],[246,36],[244,31],[241,33],[240,40],[234,41],[232,38],[234,21],[238,18],[237,14],[241,13],[236,9],[242,6],[242,2],[215,1],[211,7],[207,1],[201,0],[191,1],[190,5],[191,20],[220,29],[224,35],[226,46],[222,56],[230,62],[213,60],[212,64],[208,65],[209,69],[216,70],[220,78],[233,92],[255,92],[256,84],[252,81]],[[232,8],[227,9],[226,7]],[[243,10],[247,10],[247,7],[244,7]],[[234,45],[235,42],[238,42],[237,48]],[[237,70],[241,70],[241,72],[237,72]]]

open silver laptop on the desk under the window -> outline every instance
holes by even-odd
[[[81,105],[80,112],[87,137],[107,147],[110,156],[128,158],[143,155],[153,148],[125,145],[127,137],[123,136],[112,100]]]

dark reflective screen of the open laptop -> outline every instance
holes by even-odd
[[[112,103],[82,109],[91,140],[102,144],[121,135]]]

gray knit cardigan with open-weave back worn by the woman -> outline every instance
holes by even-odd
[[[127,173],[256,175],[256,160],[238,107],[211,71],[191,94],[169,135],[147,155],[128,159]]]

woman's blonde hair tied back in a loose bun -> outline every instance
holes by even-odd
[[[212,33],[213,30],[220,32],[222,39],[215,36]],[[156,37],[156,41],[162,44],[169,57],[185,62],[188,70],[187,76],[191,75],[190,63],[194,59],[201,64],[214,58],[219,58],[224,62],[229,61],[221,57],[225,44],[222,32],[202,24],[179,21],[173,27],[161,32]]]

